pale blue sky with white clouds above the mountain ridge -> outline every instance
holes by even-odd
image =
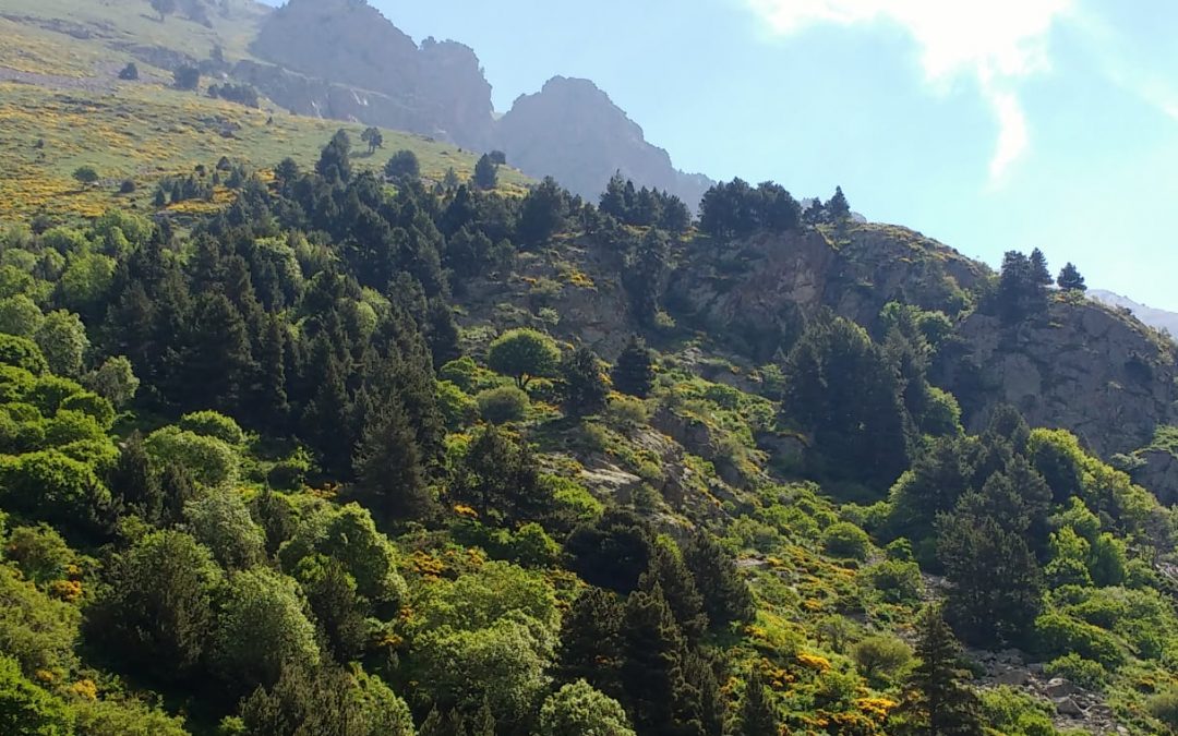
[[[474,47],[501,112],[589,78],[686,171],[842,185],[872,220],[1178,310],[1172,0],[371,1]]]

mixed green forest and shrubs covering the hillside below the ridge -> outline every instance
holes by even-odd
[[[1072,264],[966,283],[912,245],[869,319],[717,326],[684,280],[876,226],[739,179],[695,218],[498,190],[494,155],[382,175],[371,138],[0,233],[0,731],[1178,729],[1139,458],[939,380],[971,314],[1080,309]],[[624,333],[578,339],[569,294]]]

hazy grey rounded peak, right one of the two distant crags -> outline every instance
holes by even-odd
[[[677,171],[647,142],[642,128],[585,79],[556,77],[516,100],[495,128],[496,147],[532,177],[552,177],[596,201],[615,172],[638,186],[666,190],[696,207],[713,181]]]

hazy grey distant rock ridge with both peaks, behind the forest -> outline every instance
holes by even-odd
[[[503,150],[511,165],[596,199],[617,171],[696,207],[713,181],[677,171],[670,155],[588,80],[556,77],[495,120],[475,52],[454,41],[419,46],[363,0],[290,0],[262,22],[234,75],[299,114],[358,120]]]

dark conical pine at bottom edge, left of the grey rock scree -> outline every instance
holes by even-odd
[[[962,684],[967,672],[961,664],[961,644],[939,609],[929,606],[921,612],[916,634],[920,664],[908,677],[900,714],[921,736],[981,736],[978,697]]]

